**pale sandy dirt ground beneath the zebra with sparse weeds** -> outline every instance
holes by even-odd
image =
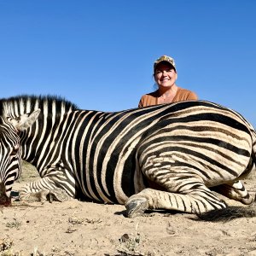
[[[37,176],[25,165],[14,190]],[[256,178],[245,183],[255,194]],[[78,200],[14,201],[0,212],[0,255],[256,255],[256,218],[211,223],[179,212],[124,214],[124,206]]]

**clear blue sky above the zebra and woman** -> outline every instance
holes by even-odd
[[[1,96],[136,108],[171,55],[177,85],[256,126],[255,0],[0,0]]]

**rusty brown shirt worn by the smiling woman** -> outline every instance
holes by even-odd
[[[157,102],[158,97],[159,97],[158,90],[155,90],[154,92],[143,95],[138,104],[138,108],[158,105],[158,102]],[[198,97],[196,96],[195,92],[177,87],[177,93],[174,96],[172,102],[183,102],[183,101],[197,100],[197,99]]]

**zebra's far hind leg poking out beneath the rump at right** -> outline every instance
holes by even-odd
[[[254,201],[253,196],[249,195],[241,180],[232,183],[224,183],[212,187],[211,189],[230,199],[240,201],[244,205],[250,205]]]

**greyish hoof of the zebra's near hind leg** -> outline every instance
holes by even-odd
[[[134,199],[125,204],[128,218],[142,216],[148,210],[148,201],[146,199]]]

